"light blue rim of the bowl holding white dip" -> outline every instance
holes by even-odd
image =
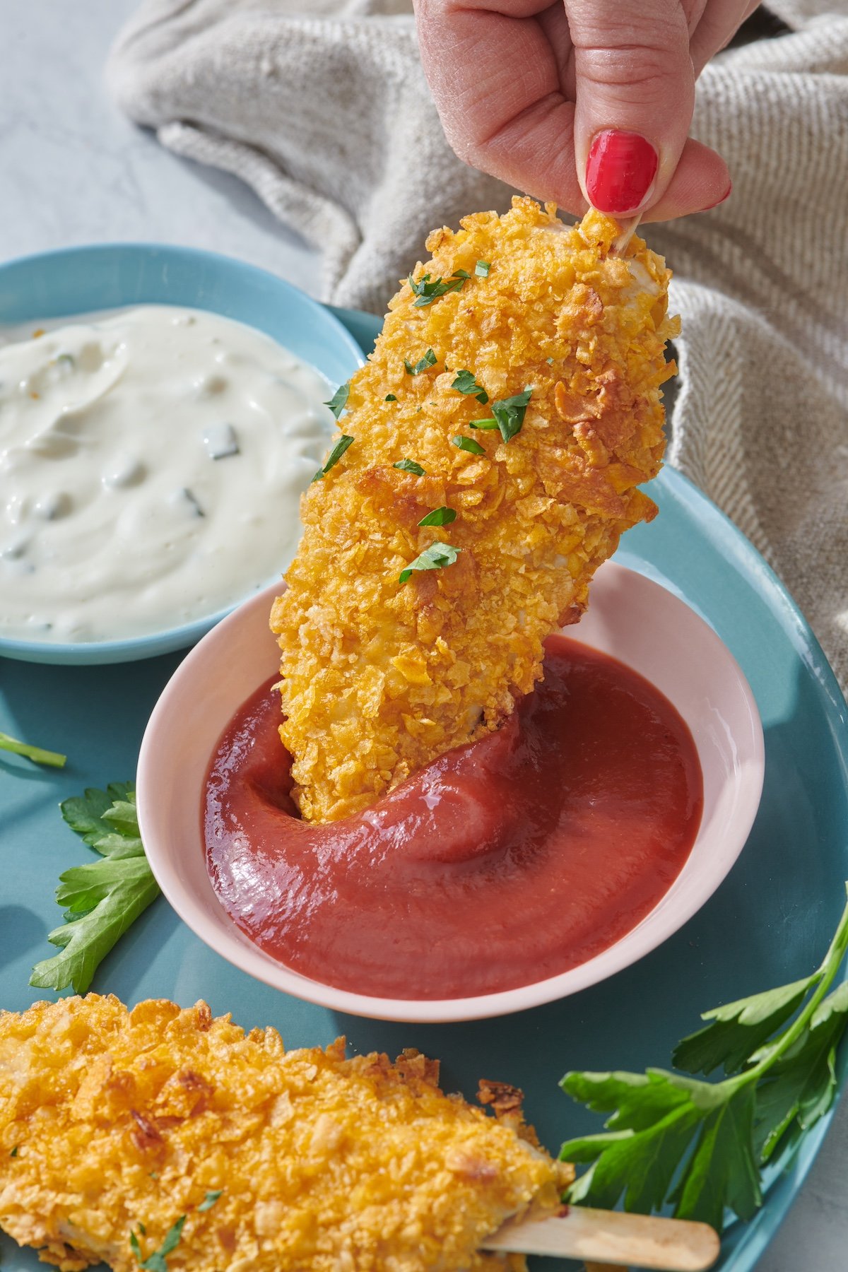
[[[165,254],[165,256],[179,256],[182,258],[189,257],[198,263],[209,262],[214,266],[220,266],[221,263],[228,267],[234,267],[239,272],[253,276],[257,281],[267,282],[270,280],[271,285],[276,289],[281,289],[284,293],[289,293],[290,296],[295,296],[300,304],[304,304],[308,310],[313,310],[315,314],[320,315],[322,322],[328,322],[332,328],[334,328],[334,335],[338,337],[339,347],[345,347],[350,352],[351,357],[355,359],[356,366],[365,365],[365,355],[359,342],[351,336],[350,331],[343,322],[333,313],[331,308],[323,305],[319,300],[315,300],[301,287],[296,286],[294,282],[289,282],[287,279],[280,277],[280,275],[273,273],[271,270],[264,270],[262,266],[252,265],[248,261],[240,261],[235,256],[226,256],[224,252],[212,252],[207,248],[188,247],[181,243],[155,243],[145,242],[139,239],[114,239],[100,243],[74,243],[70,247],[50,248],[46,252],[29,252],[25,256],[11,257],[8,261],[0,261],[0,284],[4,276],[15,268],[25,268],[28,266],[34,266],[41,262],[55,262],[61,265],[62,261],[70,257],[85,257],[85,256],[108,256],[113,252],[130,252],[135,254]],[[118,305],[106,305],[100,308],[106,309],[127,309],[133,305],[142,304],[156,304],[156,305],[173,305],[174,308],[198,308],[206,309],[209,313],[216,313],[221,318],[230,317],[229,314],[221,313],[220,309],[212,309],[209,305],[186,305],[183,301],[173,300],[137,300],[137,301],[125,301]],[[42,314],[36,317],[43,317],[47,321],[52,318],[71,318],[76,314],[97,313],[98,309],[75,309],[69,310],[66,314]],[[19,319],[25,322],[27,319]],[[36,321],[33,318],[33,321]],[[233,322],[240,322],[245,327],[253,326],[253,323],[245,322],[243,318],[233,318]],[[17,326],[18,323],[10,324],[0,319],[0,333],[9,326]],[[262,328],[256,327],[256,331],[262,331]],[[263,332],[263,335],[270,335]],[[270,336],[271,340],[276,337]],[[280,343],[277,341],[277,343]],[[310,364],[313,365],[313,364]],[[314,368],[319,374],[324,374],[319,368]],[[327,377],[324,377],[327,379]],[[271,585],[271,584],[268,584]],[[262,590],[262,589],[259,589]],[[64,663],[65,665],[80,665],[80,664],[98,664],[98,663],[122,663],[122,661],[135,661],[141,658],[155,658],[158,654],[170,653],[177,649],[184,649],[189,645],[196,644],[211,627],[215,627],[222,618],[233,613],[235,608],[244,604],[245,600],[250,600],[252,597],[243,597],[242,600],[236,602],[234,605],[224,605],[216,609],[214,613],[205,614],[200,618],[192,618],[191,622],[179,623],[175,627],[165,627],[156,632],[149,632],[141,636],[120,636],[112,637],[109,640],[98,641],[38,641],[29,640],[25,637],[17,636],[3,636],[0,635],[0,656],[23,659],[25,661],[33,663]]]

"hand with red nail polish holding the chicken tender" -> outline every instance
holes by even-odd
[[[416,0],[460,159],[573,215],[667,220],[730,193],[688,137],[695,79],[756,0]]]

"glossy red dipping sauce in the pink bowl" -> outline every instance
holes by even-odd
[[[217,897],[250,940],[325,985],[392,999],[496,993],[631,931],[689,856],[692,734],[622,663],[562,636],[510,721],[355,817],[301,822],[268,681],[212,757]]]

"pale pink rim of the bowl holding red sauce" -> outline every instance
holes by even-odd
[[[701,625],[704,639],[713,644],[713,647],[720,653],[728,673],[734,675],[735,683],[741,695],[741,701],[746,707],[748,717],[750,720],[751,738],[750,749],[746,753],[748,764],[745,781],[740,784],[739,804],[734,818],[735,826],[739,827],[737,846],[731,855],[721,857],[721,860],[712,865],[711,870],[706,871],[703,884],[694,892],[694,894],[688,898],[679,898],[674,907],[665,907],[664,913],[660,915],[659,911],[669,894],[669,890],[666,890],[656,906],[648,912],[648,915],[645,916],[645,918],[641,920],[639,923],[594,958],[587,959],[585,963],[581,963],[575,968],[570,968],[566,972],[561,972],[557,976],[547,977],[542,981],[531,982],[530,985],[487,995],[474,995],[462,999],[381,999],[367,993],[355,993],[350,990],[338,990],[320,981],[309,979],[301,973],[286,967],[284,963],[278,963],[272,959],[268,954],[254,945],[244,934],[242,934],[233,920],[229,918],[224,908],[220,907],[217,898],[215,898],[211,881],[207,901],[203,901],[197,895],[196,890],[188,887],[183,875],[177,869],[174,855],[168,851],[167,846],[161,843],[154,833],[151,833],[151,826],[145,809],[147,786],[150,785],[151,791],[160,789],[160,778],[154,776],[161,749],[159,747],[159,738],[161,735],[160,730],[165,729],[167,731],[167,720],[172,710],[172,700],[181,692],[182,681],[186,677],[189,677],[196,665],[198,663],[202,664],[205,659],[210,656],[210,653],[215,651],[217,645],[220,645],[221,649],[225,649],[231,631],[244,622],[254,621],[253,611],[258,611],[261,605],[263,609],[270,605],[273,597],[280,590],[278,588],[275,589],[271,586],[263,589],[261,593],[257,593],[254,597],[249,598],[249,600],[239,605],[238,609],[233,611],[233,613],[219,623],[217,627],[212,628],[212,631],[210,631],[183,659],[163,689],[163,693],[153,710],[141,742],[137,770],[137,810],[141,838],[145,843],[145,851],[147,852],[150,868],[156,878],[156,881],[159,883],[159,887],[170,906],[175,909],[177,915],[217,954],[233,963],[240,971],[248,973],[258,981],[262,981],[272,988],[290,993],[294,997],[303,999],[318,1006],[343,1011],[350,1015],[365,1016],[374,1020],[407,1021],[416,1024],[481,1020],[492,1016],[510,1015],[516,1011],[524,1011],[563,997],[570,997],[572,993],[578,993],[592,985],[605,981],[623,971],[626,967],[638,962],[674,935],[674,932],[683,927],[684,923],[688,922],[688,920],[692,918],[693,915],[695,915],[715,893],[730,873],[734,862],[741,854],[748,841],[756,810],[759,808],[765,772],[763,725],[754,695],[741,672],[741,668],[715,628],[701,614],[687,604],[683,598],[676,595],[669,588],[662,586],[662,584],[656,580],[650,579],[639,570],[628,569],[618,562],[606,562],[603,566],[603,570],[610,583],[614,580],[617,572],[636,575],[639,579],[641,586],[645,586],[648,591],[651,589],[656,589],[657,591],[664,593],[674,604],[688,611],[692,621]],[[572,639],[576,639],[573,632],[570,632],[570,635]],[[622,661],[627,665],[626,659],[622,659]],[[234,710],[236,709],[238,707]],[[210,743],[210,756],[216,740],[217,739],[214,739]],[[200,829],[200,809],[197,824]],[[200,840],[200,836],[197,846],[202,851],[202,841]],[[671,887],[674,887],[674,884]],[[224,916],[224,930],[220,925],[215,925],[215,922],[210,920],[210,899],[220,908],[220,915],[217,916],[219,920]],[[648,920],[653,920],[652,927],[655,929],[651,940],[637,951],[628,949],[626,944],[628,943],[628,939],[632,937],[633,932],[641,930]],[[221,944],[222,936],[225,944]]]

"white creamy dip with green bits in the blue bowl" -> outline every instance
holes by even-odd
[[[163,631],[285,570],[334,385],[201,310],[37,328],[0,336],[0,636]]]

